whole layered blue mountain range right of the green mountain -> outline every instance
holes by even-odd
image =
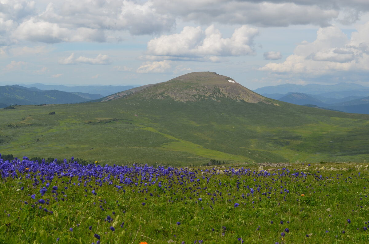
[[[369,114],[369,87],[354,83],[335,85],[283,84],[254,90],[265,97],[297,105],[316,105],[320,108],[358,114]]]

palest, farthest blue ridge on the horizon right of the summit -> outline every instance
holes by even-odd
[[[356,92],[360,90],[369,91],[369,87],[364,87],[364,86],[361,86],[355,83],[338,83],[334,85],[307,84],[304,86],[297,85],[297,84],[283,84],[283,85],[278,85],[278,86],[261,87],[261,88],[255,89],[254,91],[259,94],[264,94],[264,93],[286,94],[288,92],[307,93],[307,94],[313,94],[313,95],[320,94],[324,97],[329,97],[327,93],[333,94],[335,92],[339,92],[341,94],[347,94],[347,95],[342,95],[343,97],[348,97],[351,95],[361,96],[361,95],[356,94]],[[349,93],[349,91],[355,91],[355,92]],[[333,97],[333,98],[343,98],[343,97]]]

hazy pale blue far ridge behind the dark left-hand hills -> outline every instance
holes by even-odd
[[[134,88],[134,86],[63,86],[63,85],[45,85],[41,83],[31,85],[25,84],[21,85],[24,87],[35,87],[41,90],[58,90],[74,93],[101,94],[103,96],[107,96],[120,91],[125,91]]]

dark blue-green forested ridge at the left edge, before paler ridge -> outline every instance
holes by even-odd
[[[65,104],[84,101],[87,101],[87,99],[64,91],[37,91],[34,88],[18,85],[0,86],[0,104],[2,104],[1,107],[3,108],[14,104]]]

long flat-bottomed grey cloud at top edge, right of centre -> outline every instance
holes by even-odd
[[[346,1],[349,2],[349,1]],[[364,2],[364,1],[362,1]],[[287,27],[289,25],[330,25],[340,11],[361,10],[344,0],[156,0],[160,13],[172,13],[184,21],[200,24],[254,24],[260,27]],[[347,10],[347,11],[346,11]],[[350,16],[352,13],[349,14]],[[352,18],[352,17],[351,17]]]

